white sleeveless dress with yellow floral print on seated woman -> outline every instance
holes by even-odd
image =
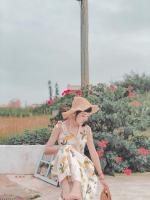
[[[95,200],[98,179],[93,162],[84,154],[87,142],[87,128],[90,127],[86,125],[75,136],[65,130],[65,124],[62,121],[58,123],[62,125],[62,132],[58,138],[60,148],[51,163],[51,173],[54,176],[57,175],[59,183],[66,176],[69,181],[80,181],[82,200]],[[59,199],[61,200],[62,198],[60,197]]]

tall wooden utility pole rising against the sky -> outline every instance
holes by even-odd
[[[89,85],[88,0],[81,2],[81,87]]]

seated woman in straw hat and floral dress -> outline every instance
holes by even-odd
[[[62,188],[60,200],[95,200],[97,176],[108,187],[101,169],[100,160],[93,143],[88,117],[99,110],[83,97],[74,97],[70,110],[63,112],[64,121],[59,121],[46,144],[45,153],[55,154],[52,175],[57,175]],[[58,141],[59,145],[55,145]],[[90,160],[84,154],[87,144]],[[95,168],[94,168],[95,167]]]

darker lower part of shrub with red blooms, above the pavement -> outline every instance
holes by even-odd
[[[117,132],[94,133],[97,154],[104,172],[131,175],[132,171],[149,171],[150,140],[143,147],[144,140],[136,143],[134,136],[130,140],[120,138]],[[146,139],[146,137],[144,137]],[[87,150],[87,149],[86,149]]]

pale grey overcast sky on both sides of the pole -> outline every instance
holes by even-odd
[[[150,1],[89,0],[90,83],[150,74]],[[80,84],[76,0],[0,0],[0,104],[48,99],[48,80]]]

